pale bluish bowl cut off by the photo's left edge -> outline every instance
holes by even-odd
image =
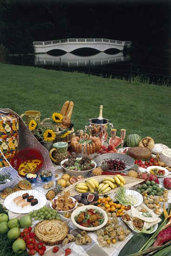
[[[5,174],[7,174],[7,172],[8,172],[8,174],[11,175],[10,176],[11,181],[7,182],[5,184],[0,183],[0,191],[3,191],[4,189],[11,188],[16,183],[16,178],[17,178],[18,172],[11,167],[0,168],[0,175],[5,175]]]

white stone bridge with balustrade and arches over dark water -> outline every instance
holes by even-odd
[[[70,38],[61,39],[53,41],[33,42],[36,53],[47,53],[51,50],[63,50],[66,53],[71,53],[72,51],[80,48],[93,48],[100,52],[104,52],[107,49],[118,49],[120,51],[124,50],[124,47],[130,47],[131,41],[119,41],[110,39],[84,39],[84,38]]]

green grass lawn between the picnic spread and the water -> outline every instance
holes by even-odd
[[[127,135],[151,136],[155,143],[171,147],[171,88],[105,79],[77,72],[46,70],[0,64],[0,108],[19,115],[38,110],[41,119],[60,112],[65,101],[73,101],[74,130],[84,129],[87,120],[103,117]]]

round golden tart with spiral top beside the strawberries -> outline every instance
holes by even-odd
[[[57,245],[62,243],[69,232],[66,222],[59,220],[40,221],[35,229],[36,239],[46,245]]]

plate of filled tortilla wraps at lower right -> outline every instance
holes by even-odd
[[[134,233],[152,234],[158,229],[158,222],[161,221],[153,212],[142,212],[133,206],[122,216],[122,220]]]

